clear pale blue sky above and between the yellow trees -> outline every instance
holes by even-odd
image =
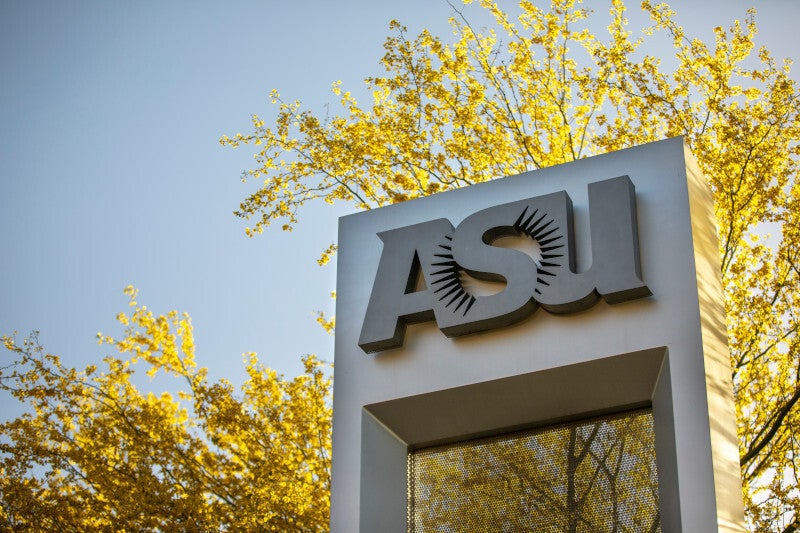
[[[753,3],[759,41],[796,54],[800,2]],[[708,37],[750,3],[673,5]],[[333,311],[335,265],[315,260],[351,208],[248,239],[232,211],[252,190],[239,180],[252,152],[218,139],[252,113],[269,123],[272,88],[320,113],[336,80],[358,95],[389,20],[449,35],[449,15],[436,0],[0,2],[0,332],[39,330],[88,364],[109,353],[95,334],[120,332],[133,284],[148,308],[192,315],[214,378],[240,380],[246,351],[289,375],[304,353],[332,359],[314,311]]]

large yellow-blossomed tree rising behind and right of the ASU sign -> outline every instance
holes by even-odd
[[[341,114],[321,118],[273,92],[274,125],[254,115],[251,133],[223,137],[257,146],[243,179],[259,185],[236,211],[253,221],[247,233],[289,229],[309,202],[370,209],[684,136],[715,199],[747,519],[753,531],[800,527],[800,102],[790,62],[756,49],[754,10],[705,43],[649,0],[640,39],[622,0],[611,0],[604,35],[575,0],[549,10],[522,1],[516,19],[480,4],[493,28],[479,31],[454,7],[450,43],[393,22],[385,73],[366,79],[370,105],[335,83]],[[671,54],[648,53],[665,42]]]

